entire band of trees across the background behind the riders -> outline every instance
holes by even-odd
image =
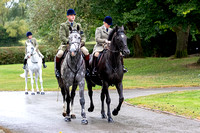
[[[185,57],[196,52],[191,48],[200,49],[193,46],[200,36],[199,0],[2,0],[0,43],[31,31],[42,43],[58,47],[59,26],[69,8],[75,9],[87,41],[94,40],[105,16],[113,18],[112,27],[124,25],[133,57]]]

